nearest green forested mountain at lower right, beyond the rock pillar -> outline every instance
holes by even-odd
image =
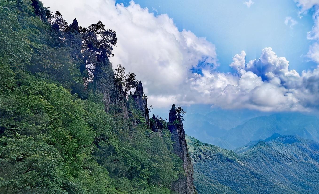
[[[318,193],[319,144],[273,135],[225,150],[186,136],[198,193]]]

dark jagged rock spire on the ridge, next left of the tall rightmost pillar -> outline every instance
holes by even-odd
[[[137,104],[137,107],[142,113],[144,114],[146,125],[149,127],[150,126],[150,118],[149,118],[149,110],[147,108],[147,98],[145,97],[145,94],[143,92],[143,85],[142,82],[139,81],[135,92],[133,94],[133,98]]]

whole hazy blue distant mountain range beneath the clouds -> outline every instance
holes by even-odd
[[[231,150],[274,133],[319,142],[319,117],[304,113],[214,110],[187,114],[184,126],[188,135]]]

